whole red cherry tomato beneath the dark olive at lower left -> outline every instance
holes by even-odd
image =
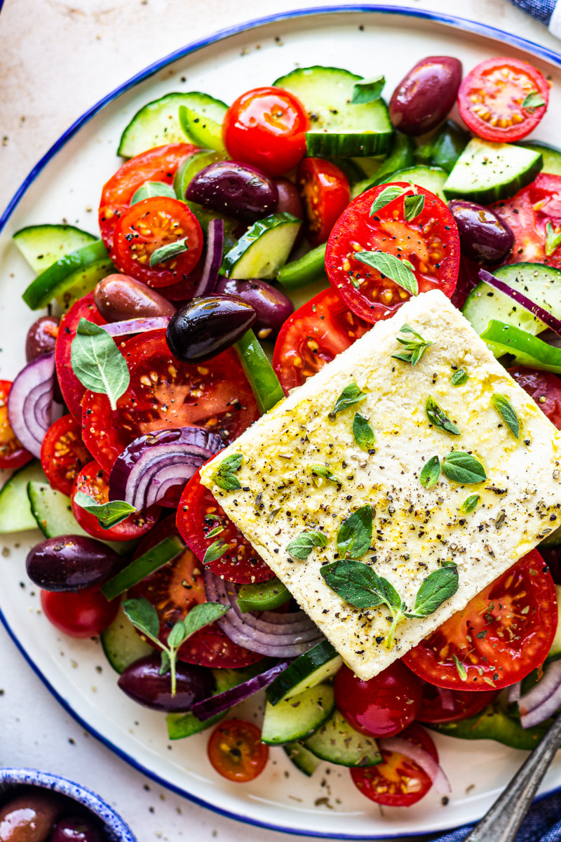
[[[53,626],[70,637],[93,637],[114,621],[119,600],[108,602],[99,588],[41,591],[41,608]]]

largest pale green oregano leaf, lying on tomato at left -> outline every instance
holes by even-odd
[[[106,330],[81,318],[71,345],[74,374],[90,392],[107,395],[112,409],[129,387],[129,368]]]

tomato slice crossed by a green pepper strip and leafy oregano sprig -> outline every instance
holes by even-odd
[[[138,558],[159,541],[172,535],[179,535],[173,514],[161,520],[144,541],[140,541],[133,558]],[[194,552],[186,547],[181,556],[131,588],[127,597],[146,597],[154,605],[160,618],[160,639],[166,642],[177,620],[186,617],[194,605],[206,602],[202,564]],[[186,663],[227,669],[247,667],[263,658],[231,641],[216,623],[204,626],[189,637],[180,647],[178,657]]]

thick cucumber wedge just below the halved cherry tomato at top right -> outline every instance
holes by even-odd
[[[509,143],[487,143],[473,137],[444,185],[447,199],[490,205],[510,199],[542,169],[540,152]]]

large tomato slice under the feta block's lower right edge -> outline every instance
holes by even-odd
[[[450,690],[499,690],[541,666],[557,628],[551,573],[537,550],[503,573],[403,657]]]

